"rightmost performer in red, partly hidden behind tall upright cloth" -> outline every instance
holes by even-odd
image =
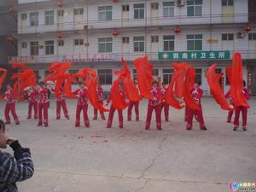
[[[247,84],[243,81],[243,89],[242,94],[245,96],[246,100],[250,99],[249,91],[246,88]],[[234,119],[234,131],[236,131],[239,127],[239,116],[241,112],[242,117],[242,130],[247,131],[247,108],[244,106],[235,106],[235,119]]]

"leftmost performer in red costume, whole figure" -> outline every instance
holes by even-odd
[[[4,108],[4,116],[5,116],[5,124],[10,124],[9,111],[12,113],[15,124],[20,125],[20,121],[15,111],[15,91],[13,90],[10,84],[7,85],[7,90],[4,93],[4,98],[6,100],[5,108]]]

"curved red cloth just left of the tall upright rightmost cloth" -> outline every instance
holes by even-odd
[[[210,90],[215,101],[224,110],[230,110],[230,104],[224,96],[224,92],[218,83],[219,79],[222,77],[223,73],[216,74],[216,64],[212,65],[207,71],[207,81],[210,86]]]

